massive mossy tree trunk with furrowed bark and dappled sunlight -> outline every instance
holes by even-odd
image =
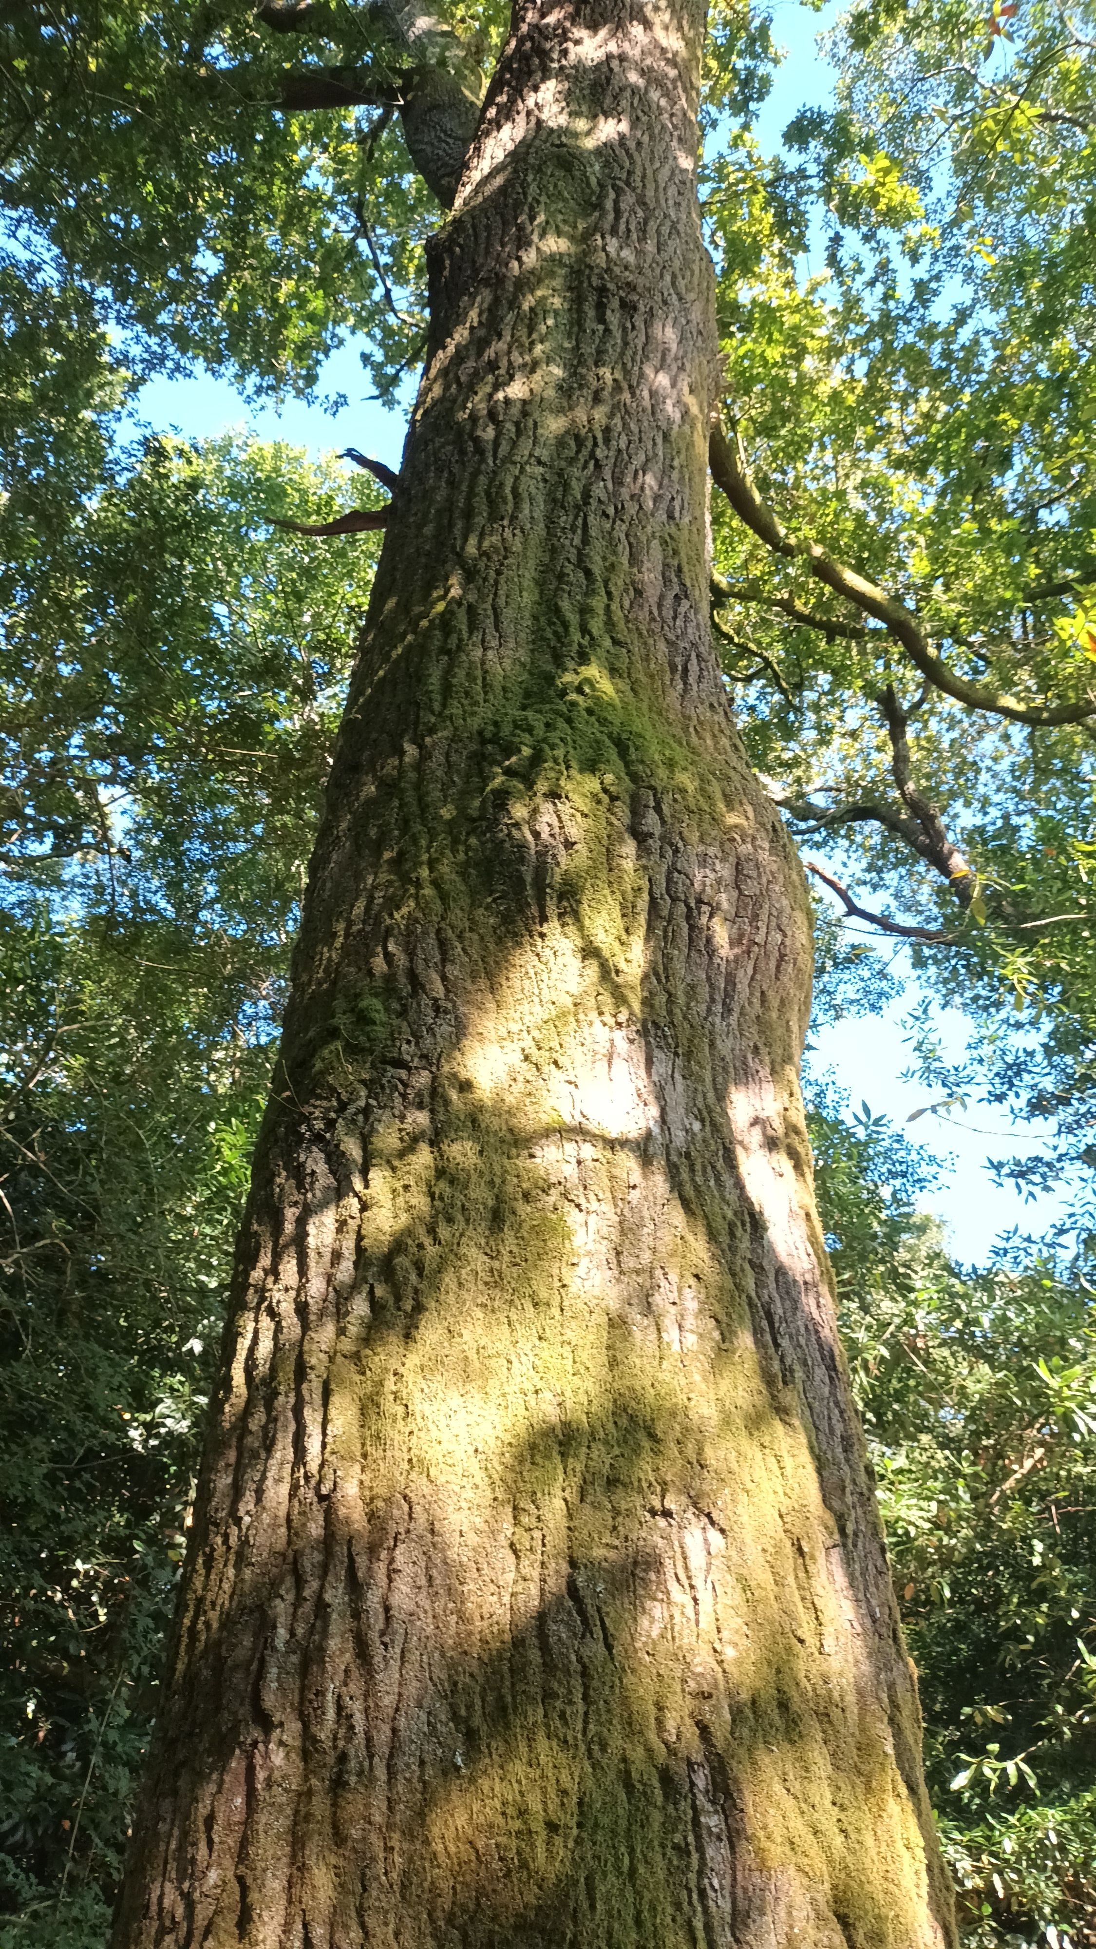
[[[528,0],[433,244],[117,1949],[952,1939],[708,645],[700,29]]]

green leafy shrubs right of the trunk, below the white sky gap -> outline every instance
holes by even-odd
[[[961,1275],[924,1156],[841,1109],[821,1088],[819,1201],[967,1939],[1090,1943],[1092,1292],[1037,1253]]]

